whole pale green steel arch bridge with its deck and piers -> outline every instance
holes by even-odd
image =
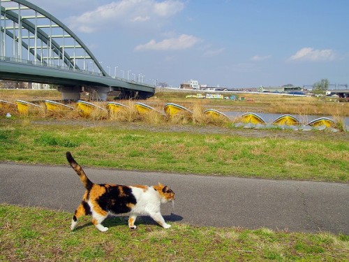
[[[147,99],[155,87],[108,75],[91,50],[56,17],[25,0],[0,0],[0,79],[58,85],[63,100],[89,91]]]

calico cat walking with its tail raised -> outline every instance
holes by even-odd
[[[108,228],[101,223],[108,214],[130,214],[128,226],[131,229],[136,228],[135,219],[138,215],[149,215],[163,228],[171,227],[171,225],[166,224],[160,212],[161,203],[174,201],[174,192],[168,186],[163,186],[161,183],[152,187],[94,184],[70,152],[66,152],[66,159],[87,189],[82,203],[75,210],[70,225],[71,230],[75,229],[77,219],[87,214],[91,214],[92,223],[99,231],[103,232],[107,231]]]

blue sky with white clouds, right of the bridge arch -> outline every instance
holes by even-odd
[[[29,0],[114,75],[212,87],[349,84],[348,0]]]

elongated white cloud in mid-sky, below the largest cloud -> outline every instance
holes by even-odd
[[[135,50],[184,50],[191,48],[199,41],[200,38],[182,34],[178,38],[168,38],[160,42],[156,42],[154,39],[152,39],[144,45],[136,46]]]

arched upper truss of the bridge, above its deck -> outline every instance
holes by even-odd
[[[0,57],[107,76],[94,54],[56,17],[25,0],[0,0]]]

